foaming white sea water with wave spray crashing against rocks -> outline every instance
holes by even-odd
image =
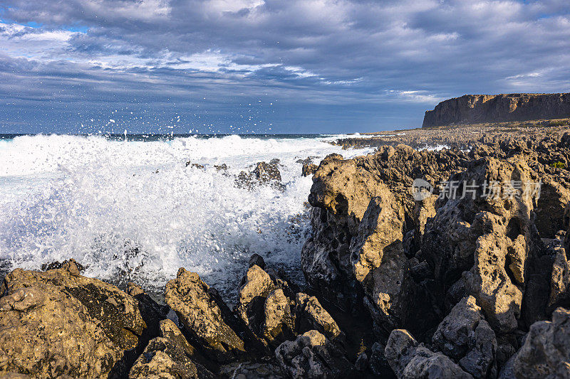
[[[91,277],[161,290],[179,267],[232,297],[247,259],[299,272],[311,178],[297,159],[341,150],[324,138],[238,136],[170,142],[26,136],[0,140],[0,260],[38,269],[75,258]],[[286,185],[237,188],[234,175],[281,159]],[[204,165],[204,169],[185,163]],[[227,164],[228,174],[214,169]]]

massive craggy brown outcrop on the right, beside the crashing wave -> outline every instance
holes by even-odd
[[[380,372],[385,358],[398,377],[494,378],[532,324],[570,306],[569,142],[482,138],[470,151],[383,146],[321,162],[301,266],[316,297],[372,317],[376,348],[358,368]],[[414,179],[433,193],[414,198]],[[400,328],[409,338],[390,342]]]

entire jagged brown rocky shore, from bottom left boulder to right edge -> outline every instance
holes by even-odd
[[[570,134],[556,131],[307,161],[307,286],[253,255],[233,309],[185,268],[165,304],[73,260],[15,269],[0,375],[569,378]],[[274,180],[271,164],[242,182]]]

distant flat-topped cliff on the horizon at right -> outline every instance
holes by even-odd
[[[570,117],[570,93],[465,95],[425,112],[423,127]]]

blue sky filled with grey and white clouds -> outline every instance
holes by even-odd
[[[570,1],[0,0],[0,133],[350,133],[570,92]]]

